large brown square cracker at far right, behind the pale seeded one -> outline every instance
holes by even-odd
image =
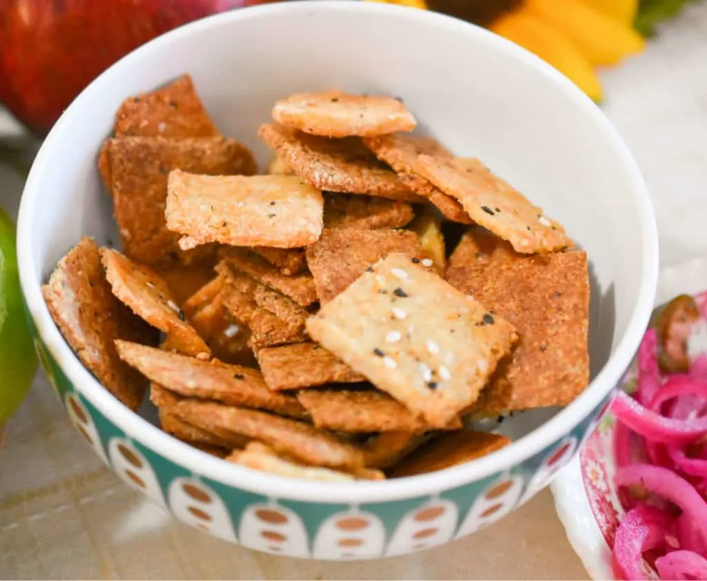
[[[481,228],[462,237],[450,258],[448,281],[520,334],[475,412],[563,406],[587,387],[588,276],[581,250],[527,256]]]

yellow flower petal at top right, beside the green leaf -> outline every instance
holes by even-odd
[[[591,64],[614,64],[643,50],[636,30],[583,0],[526,0],[526,10],[560,30]]]

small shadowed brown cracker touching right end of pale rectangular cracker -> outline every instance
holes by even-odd
[[[405,201],[352,194],[324,194],[324,224],[327,228],[402,228],[414,218]]]

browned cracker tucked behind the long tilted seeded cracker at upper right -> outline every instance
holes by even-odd
[[[437,206],[445,218],[453,222],[472,223],[469,214],[457,200],[431,184],[413,168],[418,155],[452,155],[439,141],[423,135],[390,134],[366,138],[363,143],[378,159],[390,165],[397,172],[400,181],[412,192]]]

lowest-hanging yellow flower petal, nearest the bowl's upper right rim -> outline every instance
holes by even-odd
[[[604,97],[599,78],[583,54],[562,33],[525,11],[510,13],[491,25],[496,34],[537,54],[567,76],[593,100]]]

